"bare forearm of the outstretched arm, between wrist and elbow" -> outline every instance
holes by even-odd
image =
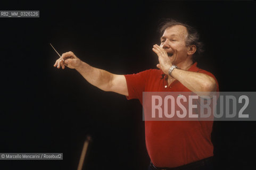
[[[93,86],[109,91],[112,73],[92,67],[85,62],[82,62],[76,70]]]

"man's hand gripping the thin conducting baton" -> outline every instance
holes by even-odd
[[[54,67],[57,67],[60,69],[65,69],[65,66],[69,67],[70,69],[78,69],[81,65],[81,60],[73,53],[73,52],[67,52],[63,53],[62,56],[56,60]]]

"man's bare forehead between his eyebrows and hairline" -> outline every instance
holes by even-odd
[[[174,25],[164,30],[162,37],[178,36],[180,38],[187,38],[187,28],[183,25]]]

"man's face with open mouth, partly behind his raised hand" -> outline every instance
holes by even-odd
[[[172,64],[179,64],[188,57],[186,46],[187,29],[183,25],[167,28],[161,37],[161,45],[166,50]]]

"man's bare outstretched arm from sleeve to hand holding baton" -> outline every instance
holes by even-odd
[[[63,60],[62,60],[63,58]],[[82,62],[73,52],[63,53],[56,60],[54,67],[76,69],[90,84],[104,91],[113,91],[128,96],[128,88],[124,75],[112,74],[108,71],[97,69]]]

